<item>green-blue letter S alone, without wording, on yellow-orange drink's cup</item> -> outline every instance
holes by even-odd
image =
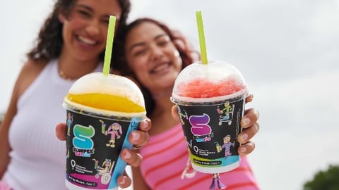
[[[95,129],[91,125],[85,127],[83,125],[74,125],[73,128],[74,138],[73,145],[79,149],[91,149],[93,148],[93,140],[90,139],[95,134]]]

